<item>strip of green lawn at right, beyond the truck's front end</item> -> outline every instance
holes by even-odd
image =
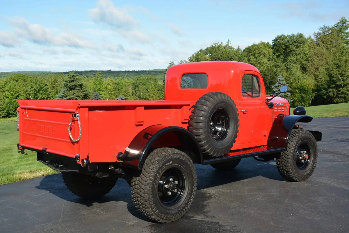
[[[291,108],[291,114],[293,114],[294,108]],[[342,104],[328,104],[305,107],[306,114],[314,118],[322,117],[348,117],[349,116],[349,103]]]

